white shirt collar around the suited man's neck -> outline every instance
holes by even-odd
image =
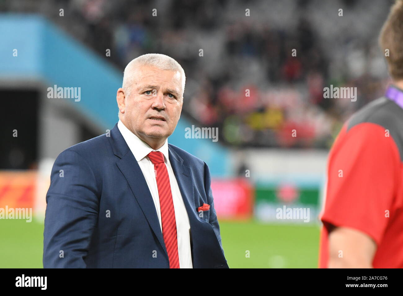
[[[118,128],[137,162],[146,157],[151,151],[160,151],[164,155],[165,161],[168,161],[168,139],[166,139],[164,145],[159,149],[154,150],[147,143],[133,134],[133,132],[131,132],[120,119],[118,121]]]

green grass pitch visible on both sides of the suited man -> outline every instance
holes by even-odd
[[[230,268],[317,267],[319,226],[220,221],[220,230]],[[35,219],[0,220],[0,267],[42,268],[43,231]]]

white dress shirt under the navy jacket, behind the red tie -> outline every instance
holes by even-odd
[[[172,200],[174,204],[175,219],[177,224],[177,238],[178,238],[178,254],[180,268],[193,268],[192,256],[190,249],[190,223],[185,203],[183,202],[181,191],[179,190],[178,182],[175,178],[168,155],[168,140],[164,145],[157,150],[152,149],[147,143],[137,137],[131,132],[122,121],[118,121],[118,128],[131,152],[133,153],[137,163],[143,172],[145,181],[152,199],[154,200],[155,209],[157,211],[158,220],[160,221],[160,228],[162,233],[161,210],[160,210],[160,197],[158,195],[157,180],[155,178],[154,164],[148,159],[147,155],[151,151],[160,151],[164,154],[165,165],[168,170],[169,182],[172,191]]]

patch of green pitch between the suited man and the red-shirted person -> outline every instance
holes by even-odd
[[[230,268],[318,267],[317,225],[220,221],[220,233]]]

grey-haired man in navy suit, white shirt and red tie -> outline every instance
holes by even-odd
[[[204,161],[168,144],[185,72],[145,54],[125,68],[119,121],[54,162],[45,268],[229,268]]]

